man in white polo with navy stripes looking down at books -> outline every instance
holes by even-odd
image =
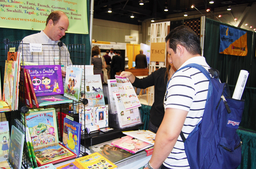
[[[168,57],[179,70],[190,63],[210,68],[201,56],[200,40],[188,26],[173,29],[165,38]],[[201,121],[207,98],[209,80],[196,68],[185,68],[176,72],[167,85],[164,98],[164,119],[156,133],[153,155],[149,169],[188,169],[182,130],[187,138]]]

